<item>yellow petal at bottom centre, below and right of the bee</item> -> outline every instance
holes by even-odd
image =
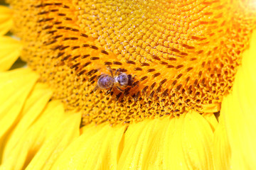
[[[169,118],[145,120],[129,125],[118,169],[162,169],[169,121]]]

